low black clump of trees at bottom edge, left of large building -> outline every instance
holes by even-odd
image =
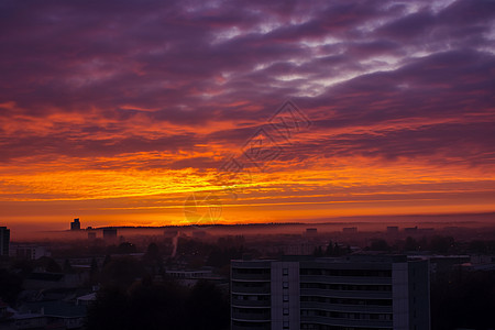
[[[229,300],[213,284],[173,282],[103,287],[88,309],[87,329],[229,329]]]

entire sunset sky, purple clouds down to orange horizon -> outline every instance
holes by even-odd
[[[0,226],[495,211],[495,1],[0,2]]]

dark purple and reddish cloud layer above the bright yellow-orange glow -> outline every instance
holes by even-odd
[[[483,0],[2,1],[1,162],[241,147],[292,98],[314,121],[298,157],[492,164],[494,18]]]

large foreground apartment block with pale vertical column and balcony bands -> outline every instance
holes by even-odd
[[[430,329],[428,261],[232,261],[231,329]]]

